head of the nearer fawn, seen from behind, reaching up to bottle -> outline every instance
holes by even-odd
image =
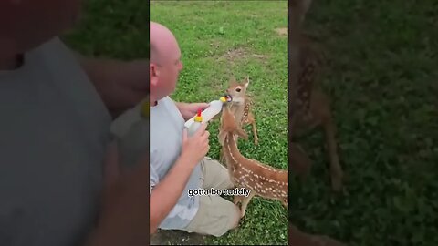
[[[235,115],[233,115],[230,108],[224,105],[224,108],[222,108],[221,127],[218,135],[219,143],[222,146],[224,146],[225,138],[227,138],[228,133],[234,133],[241,138],[248,138],[248,135],[245,133],[245,131],[235,122]]]

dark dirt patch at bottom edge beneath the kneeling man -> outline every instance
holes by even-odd
[[[150,245],[204,245],[205,237],[178,230],[159,230],[151,235]]]

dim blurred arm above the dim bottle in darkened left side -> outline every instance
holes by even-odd
[[[134,107],[148,95],[147,59],[120,61],[89,58],[78,52],[75,52],[75,56],[113,118]]]

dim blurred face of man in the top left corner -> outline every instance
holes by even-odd
[[[1,0],[0,41],[26,52],[72,27],[81,0]],[[2,48],[2,47],[0,47]]]

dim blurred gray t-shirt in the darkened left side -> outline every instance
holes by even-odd
[[[59,39],[0,71],[0,118],[0,245],[81,245],[97,219],[110,115]]]

